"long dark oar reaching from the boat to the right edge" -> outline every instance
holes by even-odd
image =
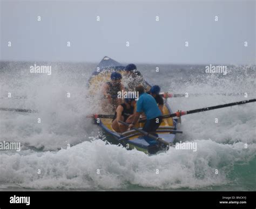
[[[182,111],[182,112],[176,112],[176,113],[169,114],[169,115],[163,115],[163,119],[166,119],[167,117],[180,117],[182,115],[188,115],[188,114],[192,114],[192,113],[200,113],[200,112],[205,112],[205,111],[212,110],[212,109],[231,107],[231,106],[235,106],[235,105],[244,105],[244,104],[250,103],[250,102],[256,102],[256,99],[244,100],[244,101],[240,101],[240,102],[232,102],[232,103],[227,103],[225,105],[217,105],[217,106],[193,109],[193,110]],[[140,120],[139,122],[145,122],[145,121],[146,120]]]

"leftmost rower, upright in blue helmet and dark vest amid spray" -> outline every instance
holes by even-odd
[[[113,72],[110,78],[111,81],[106,82],[103,87],[103,94],[109,103],[113,105],[114,109],[116,109],[116,107],[122,103],[122,99],[117,98],[118,92],[124,90],[124,86],[121,83],[122,75],[118,72]]]

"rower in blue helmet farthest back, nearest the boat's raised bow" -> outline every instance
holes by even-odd
[[[137,67],[134,64],[129,64],[124,68],[125,76],[127,80],[127,86],[128,89],[133,91],[136,86],[138,86],[140,83],[143,83],[143,86],[145,87],[145,81],[142,76],[142,74],[137,71]],[[145,88],[146,89],[146,88]]]

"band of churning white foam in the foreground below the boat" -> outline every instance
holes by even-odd
[[[158,189],[199,189],[227,184],[233,164],[250,161],[256,151],[255,144],[244,149],[241,142],[233,145],[211,140],[196,142],[197,152],[171,148],[155,156],[105,145],[101,140],[83,142],[58,152],[2,154],[0,182],[30,189],[125,189],[129,184]],[[41,169],[39,175],[38,169]]]

